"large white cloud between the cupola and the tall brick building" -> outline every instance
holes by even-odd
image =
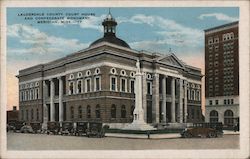
[[[160,31],[154,32],[158,35],[158,40],[145,40],[130,43],[131,46],[137,49],[159,49],[159,47],[166,45],[196,47],[197,45],[201,45],[201,41],[204,38],[203,31],[178,24],[174,20],[166,19],[161,16],[137,14],[129,19],[118,17],[117,20],[120,23],[146,24],[161,29]]]

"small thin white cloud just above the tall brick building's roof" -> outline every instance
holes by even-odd
[[[238,18],[236,18],[236,17],[230,17],[230,16],[223,14],[223,13],[201,14],[198,18],[203,20],[203,19],[208,18],[208,17],[215,17],[217,20],[228,21],[228,22],[233,22],[233,21],[238,20]]]

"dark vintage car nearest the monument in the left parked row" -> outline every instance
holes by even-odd
[[[104,125],[99,122],[89,122],[88,129],[86,130],[86,135],[88,137],[105,137],[105,132],[109,126]]]

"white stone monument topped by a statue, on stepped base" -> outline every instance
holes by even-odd
[[[135,74],[135,109],[133,112],[133,122],[123,129],[126,130],[154,130],[155,128],[144,121],[144,110],[142,107],[142,76],[140,61],[136,62]]]

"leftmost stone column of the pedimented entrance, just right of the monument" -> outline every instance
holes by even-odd
[[[159,123],[159,74],[155,73],[153,78],[152,122]]]

